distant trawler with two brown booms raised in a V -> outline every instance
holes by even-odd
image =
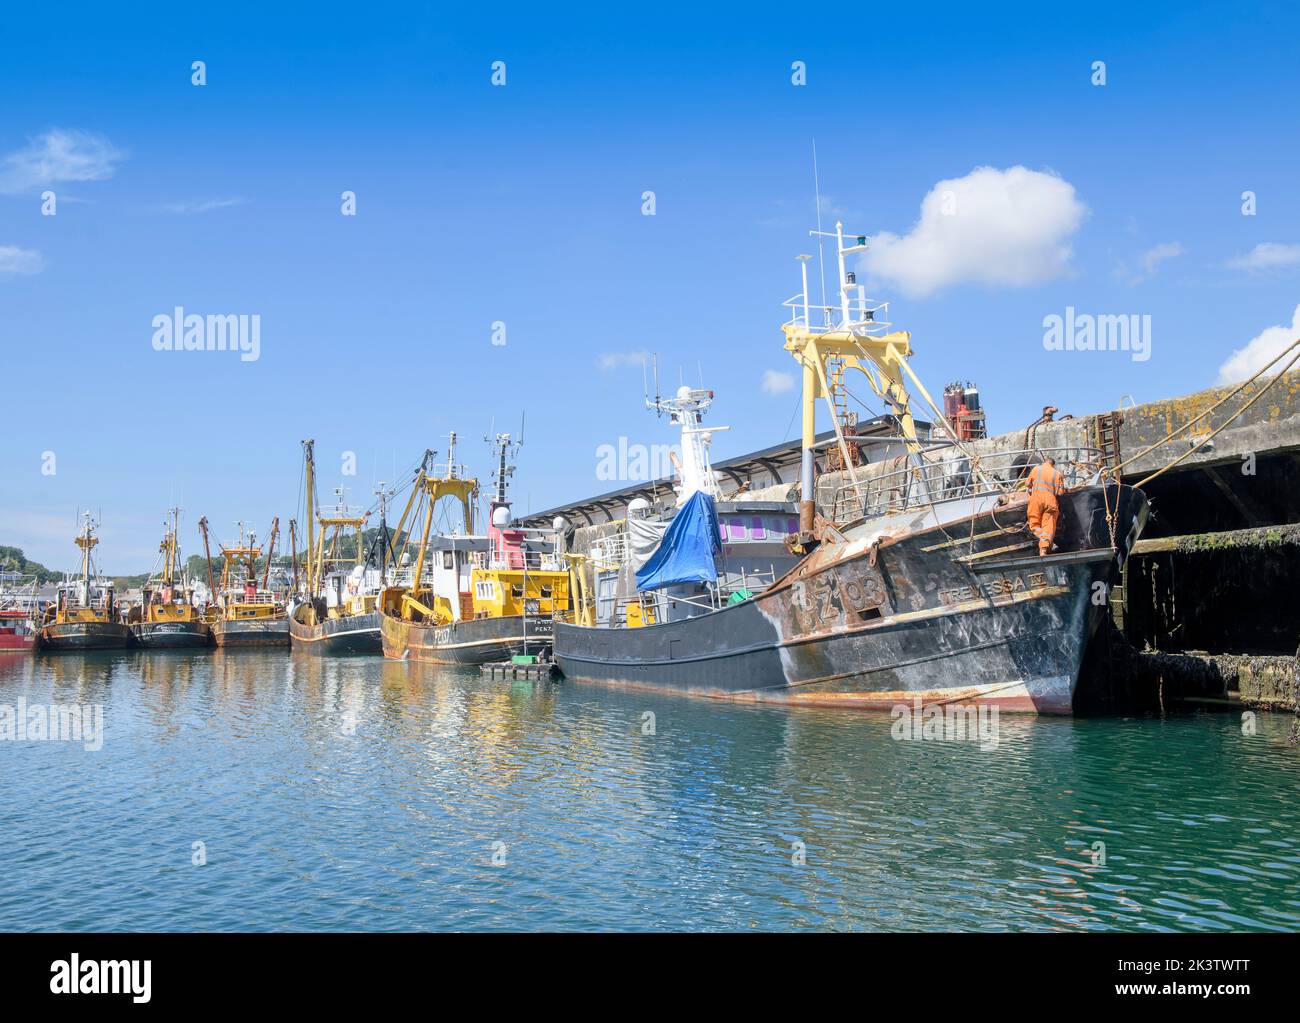
[[[203,533],[203,551],[208,562],[208,590],[216,606],[209,608],[208,621],[217,646],[289,646],[289,610],[285,598],[270,589],[272,558],[280,519],[270,525],[270,543],[266,550],[265,572],[259,584],[257,559],[263,549],[255,533],[244,536],[239,524],[239,542],[231,547],[218,545],[221,554],[221,582],[212,576],[212,547],[208,538],[208,520],[199,520]]]

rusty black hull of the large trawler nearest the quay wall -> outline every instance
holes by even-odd
[[[1062,498],[1048,558],[1023,500],[879,545],[823,545],[742,604],[636,629],[556,624],[555,659],[576,681],[703,697],[1070,714],[1105,612],[1095,584],[1115,577],[1145,516],[1139,491],[1095,486]]]

